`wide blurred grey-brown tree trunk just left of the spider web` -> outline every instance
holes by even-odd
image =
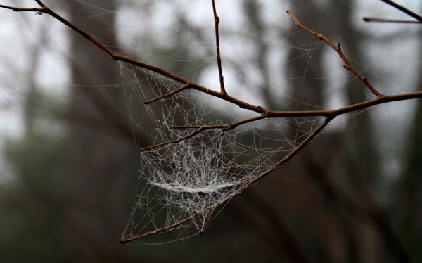
[[[117,46],[113,13],[115,1],[91,0],[89,5],[69,1],[73,23],[101,41]],[[101,11],[103,12],[103,11]],[[68,129],[69,252],[75,259],[117,261],[124,246],[118,245],[129,207],[124,203],[128,177],[125,162],[133,145],[124,134],[119,68],[103,51],[77,34],[71,35],[71,82]],[[80,86],[79,86],[80,85]],[[104,85],[104,86],[101,86]],[[122,129],[120,129],[122,128]],[[125,173],[126,172],[126,173]]]

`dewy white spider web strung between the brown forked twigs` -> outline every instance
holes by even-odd
[[[146,112],[154,129],[147,133],[151,145],[157,146],[140,151],[139,193],[122,243],[162,243],[202,233],[227,201],[297,148],[324,120],[269,118],[222,133],[218,127],[226,123],[220,119],[233,110],[224,110],[221,100],[193,89],[179,91],[183,84],[149,70],[126,63],[120,68],[134,129],[146,124],[136,120],[131,105],[153,100]],[[204,125],[215,128],[193,134]],[[182,138],[186,139],[177,141]],[[163,241],[155,233],[169,235]]]

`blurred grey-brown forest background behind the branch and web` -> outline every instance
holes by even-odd
[[[120,53],[217,87],[210,2],[46,4]],[[399,3],[421,11],[415,2]],[[226,83],[245,101],[305,110],[368,97],[286,9],[340,42],[385,94],[422,90],[422,27],[364,23],[369,15],[409,19],[381,1],[217,1],[217,9]],[[418,100],[348,115],[236,195],[203,235],[119,244],[136,193],[139,145],[149,143],[134,141],[119,66],[47,15],[0,12],[0,261],[422,259]],[[130,106],[141,111],[138,103]]]

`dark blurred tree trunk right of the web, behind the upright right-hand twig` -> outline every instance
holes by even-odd
[[[335,20],[333,15],[327,15],[316,1],[293,1],[293,6],[293,10],[307,6],[309,12],[306,15],[297,14],[301,23],[329,38],[334,31],[332,25],[338,23],[338,20],[347,20],[345,18]],[[292,78],[291,92],[293,98],[297,100],[290,105],[290,108],[318,110],[315,107],[324,106],[325,96],[330,96],[327,91],[328,82],[324,79],[328,73],[326,70],[328,65],[324,63],[325,49],[312,50],[321,43],[307,32],[295,34],[292,44],[293,46],[308,44],[304,48],[308,49],[309,53],[301,56],[304,53],[301,49],[293,49],[290,53],[290,59],[298,58],[293,60],[288,68],[289,77]],[[301,217],[301,221],[309,219],[308,225],[302,222],[304,229],[308,231],[302,237],[309,243],[305,248],[308,252],[312,249],[319,250],[316,255],[326,262],[342,262],[347,254],[345,222],[338,207],[335,206],[335,203],[340,202],[339,192],[343,188],[344,180],[342,140],[341,134],[321,134],[288,166],[288,173],[296,177],[295,180],[289,180],[293,183],[290,188],[298,189],[297,192],[289,193],[298,200],[296,204],[298,211],[293,220],[295,217]],[[311,242],[314,243],[312,246]]]

